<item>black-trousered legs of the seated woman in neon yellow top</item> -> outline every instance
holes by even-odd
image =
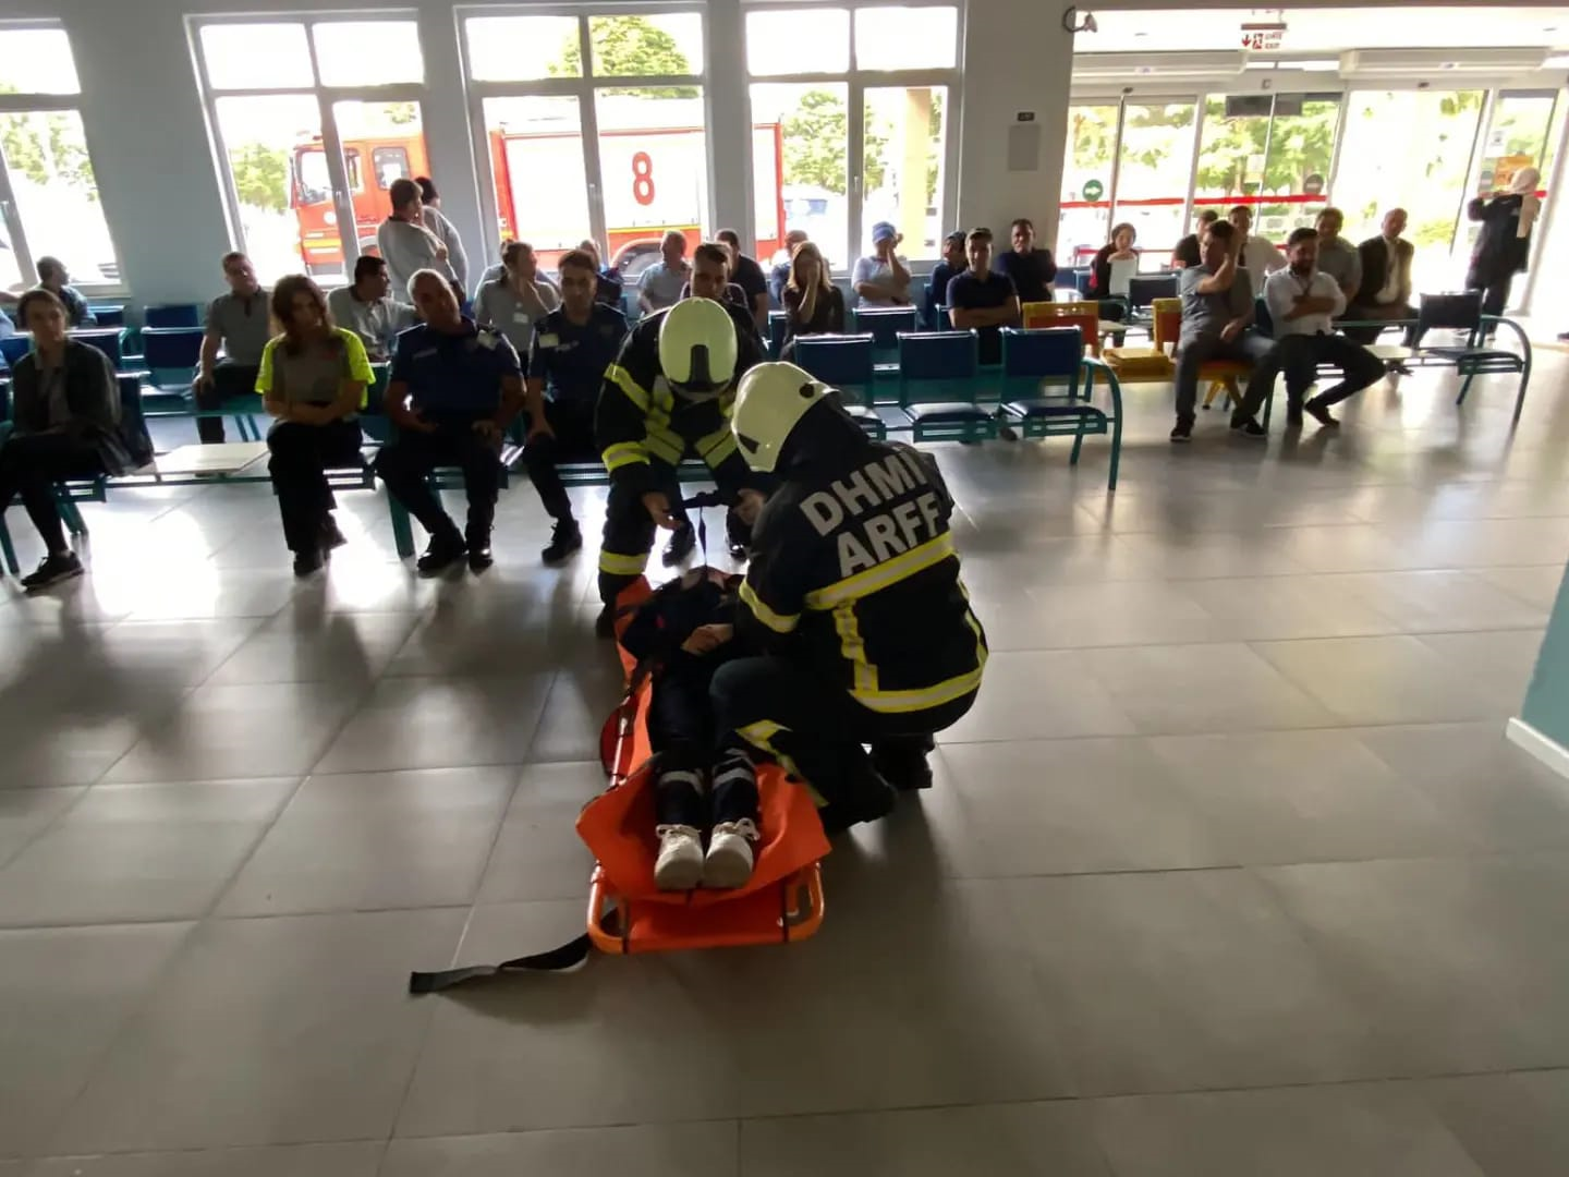
[[[308,576],[322,567],[328,552],[345,543],[333,518],[333,488],[326,471],[359,466],[359,422],[333,421],[304,425],[278,421],[267,432],[271,457],[267,472],[278,493],[284,543],[295,556],[295,574]]]

